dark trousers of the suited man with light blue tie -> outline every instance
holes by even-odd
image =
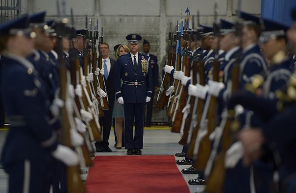
[[[113,106],[109,105],[108,110],[104,110],[104,117],[99,118],[99,124],[102,128],[102,142],[96,142],[95,145],[101,145],[103,148],[106,148],[109,146],[109,137],[110,137],[110,131],[111,131],[111,125],[112,125],[112,112],[113,112]]]

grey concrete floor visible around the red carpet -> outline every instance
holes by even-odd
[[[4,143],[6,131],[0,131],[0,149],[2,149],[2,144]],[[176,152],[180,152],[182,149],[181,145],[178,145],[180,139],[179,134],[171,133],[168,127],[152,126],[146,128],[144,131],[144,149],[142,150],[143,155],[174,155]],[[111,131],[110,135],[110,148],[112,152],[107,153],[96,153],[96,155],[126,155],[126,150],[117,150],[113,146],[115,144],[114,132]],[[176,160],[182,159],[175,157]],[[189,168],[190,166],[177,166],[178,169]],[[86,175],[81,176],[83,179]],[[197,174],[183,174],[184,180],[187,182],[190,179],[196,178]],[[201,192],[203,186],[192,186],[188,185],[191,193]],[[0,169],[0,193],[7,193],[7,175],[4,173],[3,169]]]

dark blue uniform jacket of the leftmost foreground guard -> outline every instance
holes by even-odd
[[[56,149],[57,139],[47,121],[48,96],[43,80],[25,58],[5,57],[1,93],[10,128],[3,147],[3,167],[16,161],[43,160]]]

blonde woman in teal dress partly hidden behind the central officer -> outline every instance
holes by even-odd
[[[129,48],[126,45],[120,45],[116,49],[115,53],[115,60],[121,55],[129,53]],[[117,65],[117,64],[116,64]],[[114,108],[113,108],[113,115],[112,117],[115,119],[115,133],[117,136],[117,145],[116,149],[122,148],[122,136],[123,136],[123,104],[119,104],[117,99],[115,99]]]

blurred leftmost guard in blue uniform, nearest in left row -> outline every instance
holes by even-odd
[[[1,93],[11,123],[1,164],[9,175],[9,193],[49,192],[51,156],[69,166],[78,163],[73,150],[58,145],[49,125],[46,84],[26,59],[36,37],[28,21],[24,16],[0,25]]]

